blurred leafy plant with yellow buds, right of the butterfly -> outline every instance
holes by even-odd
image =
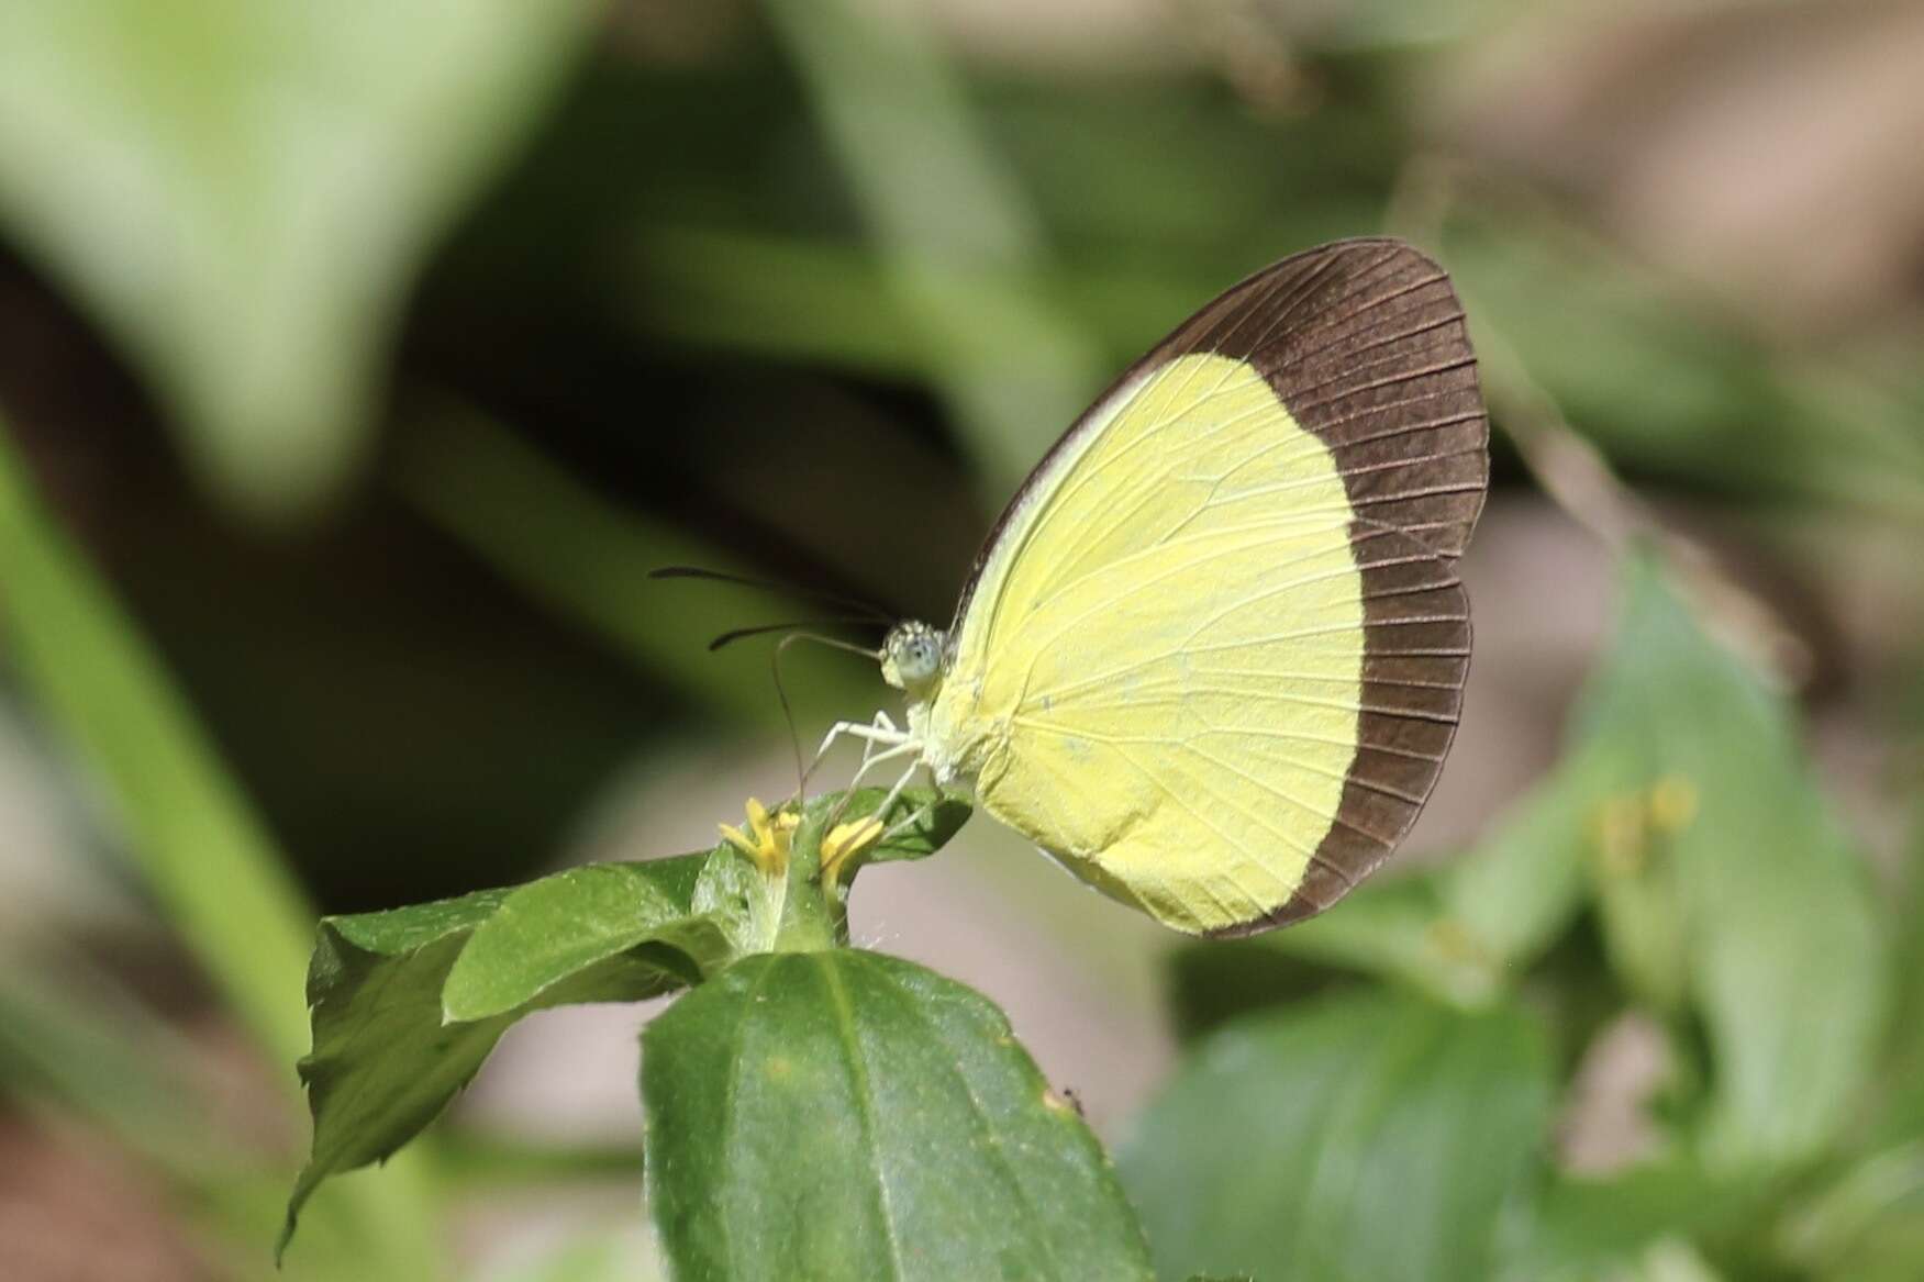
[[[1297,1153],[1293,1165],[1256,1180],[1258,1207],[1233,1192],[1254,1159],[1220,1161],[1228,1136],[1285,1126],[1279,1101],[1320,1101],[1326,1091],[1335,1097],[1308,1111],[1318,1126],[1335,1126],[1347,1109],[1387,1109],[1374,1103],[1383,1097],[1418,1109],[1410,1126],[1464,1126],[1424,1157],[1395,1157],[1395,1141],[1372,1138],[1329,1159],[1381,1157],[1426,1174],[1453,1172],[1428,1193],[1405,1174],[1395,1192],[1366,1203],[1395,1207],[1405,1244],[1437,1255],[1345,1265],[1347,1253],[1374,1249],[1378,1226],[1331,1224],[1301,1236],[1335,1263],[1301,1259],[1278,1265],[1276,1276],[1595,1276],[1595,1269],[1630,1269],[1643,1251],[1705,1224],[1730,1234],[1734,1203],[1764,1222],[1820,1215],[1787,1193],[1799,1188],[1797,1176],[1861,1161],[1853,1124],[1876,1082],[1903,1080],[1903,1061],[1889,1047],[1903,1028],[1889,1009],[1903,972],[1887,939],[1914,926],[1878,912],[1864,860],[1814,785],[1782,695],[1705,635],[1653,562],[1628,564],[1624,597],[1618,635],[1580,701],[1564,762],[1485,845],[1435,872],[1368,885],[1341,912],[1249,943],[1202,945],[1185,961],[1183,999],[1204,1003],[1189,1024],[1208,1032],[1185,1074],[1149,1111],[1126,1167],[1151,1240],[1170,1251],[1166,1276],[1181,1276],[1199,1259],[1212,1267],[1278,1261],[1274,1215],[1316,1207],[1331,1178],[1343,1197],[1354,1195],[1360,1176],[1329,1176],[1303,1138],[1256,1143]],[[1560,903],[1547,907],[1553,901]],[[1553,928],[1532,930],[1532,922]],[[1591,932],[1601,945],[1595,961],[1580,970],[1558,964],[1558,953]],[[1291,989],[1258,982],[1226,1014],[1228,976],[1264,974],[1251,964],[1264,951],[1329,968],[1331,978],[1370,976],[1372,987],[1424,997],[1395,1009],[1381,1005],[1385,993],[1337,987],[1291,1001]],[[1228,957],[1212,961],[1212,953]],[[1304,986],[1303,976],[1293,980],[1295,991]],[[1422,1053],[1405,1059],[1397,1051],[1403,1038],[1451,1045],[1453,1034],[1435,1030],[1468,1016],[1483,1024],[1462,1024],[1455,1036],[1481,1045],[1472,1030],[1487,1026],[1489,1013],[1508,1013],[1543,1043],[1560,1041],[1570,1063],[1601,1045],[1597,989],[1608,989],[1608,1018],[1635,1013],[1655,1022],[1664,1059],[1662,1099],[1643,1101],[1658,1126],[1637,1165],[1603,1184],[1557,1174],[1541,1116],[1526,1126],[1528,1141],[1478,1120],[1480,1109],[1524,1107],[1541,1091],[1526,1074],[1530,1066],[1541,1074],[1539,1061],[1512,1049],[1503,1066],[1481,1064],[1464,1084],[1443,1088],[1443,1049],[1422,1041]],[[1285,1005],[1268,1009],[1278,999]],[[1368,1018],[1381,1030],[1360,1032]],[[1358,1032],[1324,1030],[1345,1020],[1358,1020]],[[1341,1057],[1345,1036],[1360,1039],[1353,1053],[1364,1063],[1304,1059],[1310,1051]],[[1231,1068],[1212,1076],[1218,1063]],[[1397,1076],[1389,1090],[1376,1084],[1378,1074],[1408,1080]],[[1420,1091],[1439,1097],[1424,1109],[1414,1103]],[[1487,1147],[1503,1136],[1512,1136],[1510,1155]],[[1316,1132],[1316,1141],[1328,1140]],[[1884,1163],[1903,1168],[1901,1157]],[[1474,1211],[1443,1203],[1464,1195],[1470,1172],[1499,1188]],[[1853,1178],[1866,1176],[1845,1176]],[[1895,1178],[1893,1199],[1901,1199],[1909,1188]],[[1339,1199],[1329,1213],[1354,1215],[1356,1205]],[[1416,1228],[1426,1217],[1447,1232],[1426,1236]],[[1743,1236],[1709,1242],[1710,1259],[1728,1255],[1745,1267],[1762,1265],[1772,1247]],[[1822,1263],[1822,1276],[1853,1276],[1834,1272],[1835,1261]],[[1753,1274],[1739,1269],[1735,1276]]]

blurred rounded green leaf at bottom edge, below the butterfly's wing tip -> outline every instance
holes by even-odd
[[[1122,1174],[1166,1278],[1487,1282],[1549,1105],[1522,1011],[1335,993],[1201,1039]]]

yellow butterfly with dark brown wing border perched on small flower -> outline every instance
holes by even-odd
[[[897,626],[910,756],[1168,926],[1335,903],[1443,768],[1489,479],[1449,277],[1397,241],[1258,271],[1131,366],[1029,474],[947,631]],[[827,747],[827,743],[823,743]],[[906,776],[904,776],[906,783]],[[900,785],[897,785],[900,789]]]

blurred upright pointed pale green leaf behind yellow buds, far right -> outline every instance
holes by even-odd
[[[1651,1001],[1705,1022],[1712,1168],[1797,1161],[1843,1122],[1884,1030],[1868,870],[1784,697],[1653,562],[1630,562],[1626,595],[1585,716],[1618,785],[1593,860],[1605,939]]]

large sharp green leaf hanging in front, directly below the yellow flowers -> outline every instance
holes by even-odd
[[[831,949],[643,1034],[648,1190],[687,1278],[1147,1278],[1108,1159],[981,995]]]

